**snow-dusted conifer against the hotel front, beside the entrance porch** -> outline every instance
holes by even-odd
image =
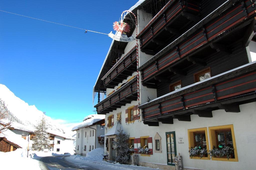
[[[116,158],[115,161],[127,164],[129,159],[129,137],[130,135],[126,135],[123,133],[123,130],[120,128],[118,129],[118,134],[116,134],[116,142],[114,144],[116,145]]]

